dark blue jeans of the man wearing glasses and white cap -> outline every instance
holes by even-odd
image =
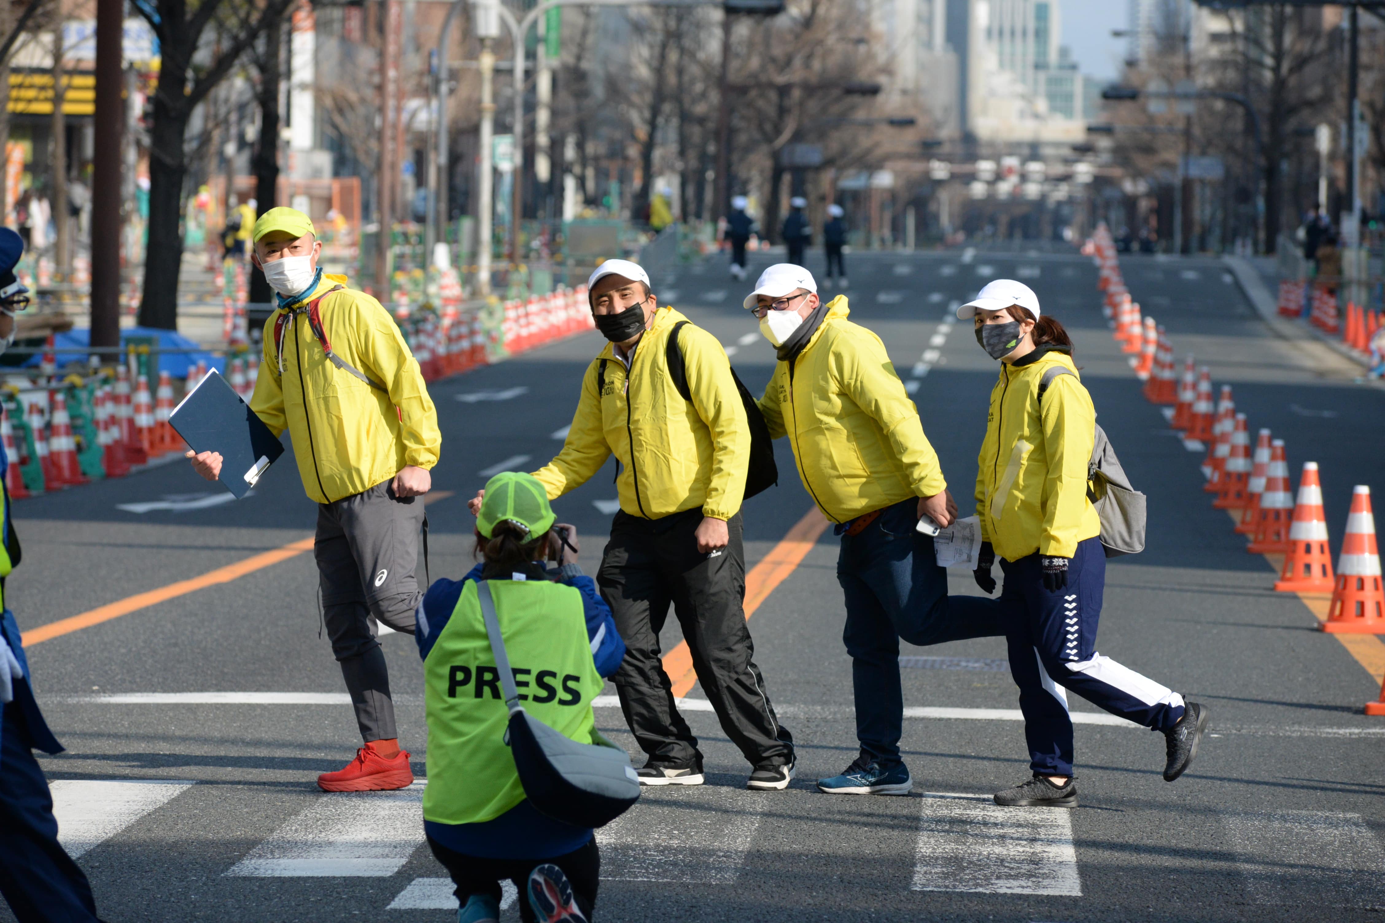
[[[861,756],[897,764],[904,724],[899,686],[899,639],[935,645],[1006,634],[1000,603],[949,596],[947,570],[933,558],[933,540],[914,531],[918,500],[889,506],[859,536],[842,536],[837,580],[846,596],[842,641],[852,656],[856,738]]]

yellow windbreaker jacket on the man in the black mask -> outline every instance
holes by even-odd
[[[629,371],[611,343],[591,361],[562,451],[533,472],[548,500],[580,487],[614,453],[620,509],[632,516],[659,519],[697,506],[716,519],[740,512],[751,461],[745,405],[722,343],[695,324],[679,332],[692,400],[679,394],[665,350],[673,325],[686,320],[661,307]]]

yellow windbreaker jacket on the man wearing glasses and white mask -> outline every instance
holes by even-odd
[[[803,486],[839,523],[947,486],[885,345],[849,313],[845,295],[832,299],[760,399],[770,436],[789,437]]]

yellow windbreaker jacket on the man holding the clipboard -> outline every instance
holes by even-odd
[[[345,275],[324,273],[302,302],[345,284]],[[274,311],[265,324],[265,354],[251,410],[276,436],[288,429],[310,500],[330,504],[389,480],[404,465],[438,464],[438,411],[418,361],[379,302],[342,289],[324,298],[319,313],[332,351],[388,393],[332,365],[306,314],[285,321],[281,375],[274,321],[285,313]]]

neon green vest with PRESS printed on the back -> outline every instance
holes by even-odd
[[[605,681],[591,659],[580,591],[539,580],[492,580],[490,594],[525,711],[573,740],[594,743],[591,702]],[[524,801],[504,742],[510,713],[472,581],[424,660],[424,818],[482,823]]]

